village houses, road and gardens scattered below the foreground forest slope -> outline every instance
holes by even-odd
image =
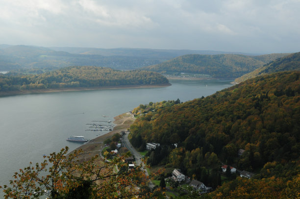
[[[101,155],[106,155],[106,157],[113,158],[114,155],[124,152],[124,148],[128,149],[132,154],[132,156],[125,158],[125,162],[128,163],[128,170],[134,169],[136,165],[144,164],[142,159],[145,158],[145,152],[138,152],[129,142],[129,132],[129,130],[121,131],[121,133],[119,134],[120,136],[114,134],[111,139],[107,139],[106,141],[104,141],[103,143],[105,145],[101,153]],[[118,138],[118,140],[116,140],[116,138]],[[112,140],[115,140],[116,142],[111,142]],[[155,150],[158,147],[160,147],[160,144],[158,143],[146,144],[146,149],[148,151]],[[177,145],[174,144],[174,147],[176,148]],[[244,149],[239,149],[237,155],[241,156],[244,151]],[[145,169],[145,172],[147,175],[149,175],[150,173],[149,169]],[[240,171],[232,166],[228,166],[225,164],[220,165],[220,173],[222,173],[222,175],[224,176],[230,173],[234,174],[235,176],[246,178],[251,178],[252,176],[254,176],[253,173],[250,173],[248,171]],[[163,181],[164,182],[162,183],[161,178],[152,179],[149,187],[153,189],[155,188],[155,186],[163,186],[162,188],[166,189],[167,193],[170,194],[169,196],[178,196],[179,194],[191,191],[197,192],[199,195],[202,195],[213,191],[212,187],[206,186],[203,182],[194,179],[193,176],[187,176],[178,168],[175,168],[168,177],[163,178]]]

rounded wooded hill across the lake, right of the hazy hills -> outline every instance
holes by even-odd
[[[247,74],[263,66],[266,62],[284,55],[188,54],[157,65],[144,67],[143,69],[163,74],[194,73],[211,75],[218,78],[234,78]]]

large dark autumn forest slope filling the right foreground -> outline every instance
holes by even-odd
[[[251,181],[223,185],[226,189],[218,191],[224,196],[243,186],[253,193],[269,186],[280,195],[287,180],[299,174],[300,72],[260,76],[178,102],[150,102],[133,110],[140,116],[130,127],[131,143],[140,149],[148,142],[161,145],[150,152],[150,165],[179,168],[213,188],[221,185],[221,163],[256,174]],[[245,150],[240,157],[239,149]],[[281,181],[279,189],[273,181]]]

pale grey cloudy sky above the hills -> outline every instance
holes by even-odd
[[[0,44],[300,51],[300,0],[0,0]]]

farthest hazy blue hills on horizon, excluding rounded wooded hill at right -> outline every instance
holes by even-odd
[[[0,71],[10,71],[20,68],[53,70],[60,67],[84,65],[133,70],[191,53],[220,54],[230,52],[125,48],[44,48],[24,45],[0,45]]]

